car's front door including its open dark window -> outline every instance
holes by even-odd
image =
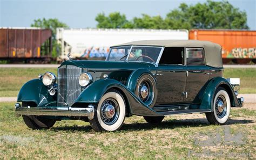
[[[183,102],[186,84],[184,53],[183,47],[166,47],[164,49],[156,72],[157,104]]]

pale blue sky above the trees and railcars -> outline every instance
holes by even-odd
[[[58,18],[71,28],[95,28],[98,13],[119,11],[127,19],[140,17],[142,13],[150,16],[166,16],[178,8],[180,3],[196,4],[206,0],[0,0],[0,27],[29,27],[34,19]],[[256,0],[230,0],[235,8],[247,13],[247,24],[256,30]]]

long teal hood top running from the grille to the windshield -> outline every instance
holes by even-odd
[[[141,61],[65,61],[60,66],[73,65],[90,70],[155,68],[154,64]]]

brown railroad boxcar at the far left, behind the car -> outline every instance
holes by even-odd
[[[37,62],[51,58],[52,31],[36,27],[1,27],[0,60]]]

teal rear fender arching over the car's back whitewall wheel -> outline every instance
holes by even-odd
[[[239,103],[237,96],[235,96],[233,88],[232,88],[231,84],[227,81],[227,79],[225,79],[223,77],[215,77],[215,78],[211,79],[207,85],[207,88],[204,92],[203,99],[201,101],[200,109],[213,110],[212,104],[213,104],[213,100],[214,100],[214,94],[219,86],[221,86],[227,90],[227,92],[230,96],[232,107],[241,107],[241,104]]]

